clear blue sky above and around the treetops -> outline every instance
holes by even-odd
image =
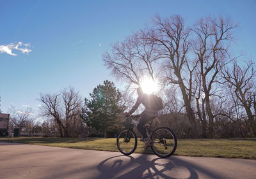
[[[150,25],[156,14],[182,15],[186,24],[228,15],[240,25],[234,53],[243,52],[244,58],[255,61],[255,9],[256,1],[0,0],[0,108],[8,112],[11,104],[28,105],[36,113],[40,92],[72,86],[88,97],[107,79],[119,87],[101,55],[111,43]],[[8,53],[6,47],[11,46]]]

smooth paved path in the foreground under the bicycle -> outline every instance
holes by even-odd
[[[0,178],[256,178],[256,161],[101,152],[0,142]]]

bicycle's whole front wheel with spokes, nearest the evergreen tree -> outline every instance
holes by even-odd
[[[134,131],[122,129],[116,138],[118,150],[124,155],[132,154],[137,147],[137,136]]]

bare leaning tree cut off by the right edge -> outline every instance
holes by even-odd
[[[250,133],[256,137],[256,71],[253,62],[246,62],[246,66],[241,68],[237,62],[233,63],[232,69],[223,69],[223,78],[227,81],[227,87],[236,95],[240,104],[246,111],[250,126]]]

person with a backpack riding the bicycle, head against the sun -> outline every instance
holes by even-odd
[[[148,138],[147,131],[144,128],[144,126],[152,118],[159,117],[158,111],[159,111],[159,109],[163,108],[163,103],[161,101],[161,104],[159,104],[157,107],[153,107],[154,104],[152,104],[152,103],[156,103],[156,101],[150,99],[150,98],[154,98],[153,95],[145,94],[143,92],[143,90],[141,89],[141,87],[138,87],[137,93],[138,93],[138,99],[137,99],[136,103],[134,104],[134,106],[132,106],[132,108],[129,112],[125,113],[125,115],[127,115],[127,116],[132,115],[132,113],[134,113],[134,111],[137,110],[137,108],[140,106],[141,103],[143,104],[143,106],[145,106],[145,110],[141,113],[141,118],[140,118],[140,122],[137,125],[137,129],[140,132],[141,136],[143,137],[143,141],[145,143],[144,148],[147,148],[148,145],[150,144],[150,138]],[[158,98],[160,98],[160,97],[158,97]]]

